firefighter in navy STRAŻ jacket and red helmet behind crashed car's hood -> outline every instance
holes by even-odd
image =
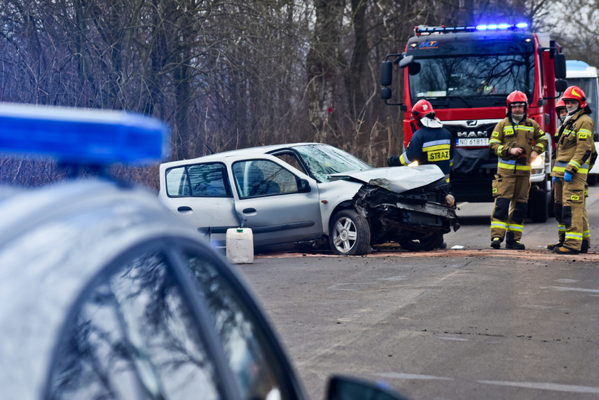
[[[445,174],[445,181],[449,183],[449,170],[453,164],[453,139],[450,132],[436,118],[432,104],[425,99],[414,104],[412,118],[419,129],[414,132],[406,151],[401,156],[387,158],[387,165],[400,167],[415,161],[418,165],[434,164]],[[439,245],[440,249],[446,247],[445,241]]]

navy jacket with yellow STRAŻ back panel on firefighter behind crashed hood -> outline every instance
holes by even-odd
[[[401,156],[391,157],[389,165],[408,165],[414,161],[418,161],[418,165],[434,164],[448,177],[453,164],[452,142],[450,132],[444,127],[420,127],[408,149]]]

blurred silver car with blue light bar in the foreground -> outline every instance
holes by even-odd
[[[0,105],[3,152],[103,170],[166,144],[151,118]],[[0,399],[304,397],[245,285],[153,193],[98,177],[0,201]],[[337,377],[327,398],[401,396]]]

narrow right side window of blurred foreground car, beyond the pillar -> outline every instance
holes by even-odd
[[[188,254],[199,290],[214,317],[230,368],[243,399],[295,399],[289,365],[278,352],[266,324],[248,308],[242,290],[202,258]]]

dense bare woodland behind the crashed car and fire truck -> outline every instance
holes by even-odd
[[[378,98],[380,62],[416,25],[493,12],[540,27],[557,1],[0,0],[0,99],[156,116],[172,129],[170,158],[315,140],[380,166],[386,121],[400,130],[403,118]],[[579,58],[597,64],[596,4],[563,6],[588,27]],[[64,177],[51,163],[1,162],[4,181]],[[118,174],[156,188],[156,171]]]

